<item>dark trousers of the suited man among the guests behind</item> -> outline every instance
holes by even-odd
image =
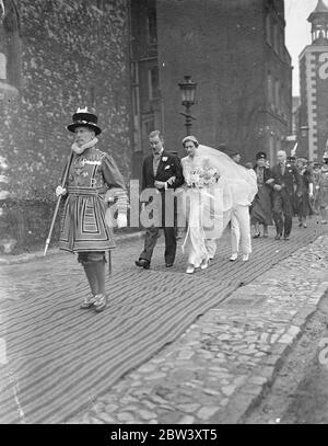
[[[288,193],[273,193],[273,220],[277,233],[290,236],[293,224],[293,205]]]

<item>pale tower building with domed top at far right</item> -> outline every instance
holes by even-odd
[[[307,21],[312,24],[312,44],[298,57],[297,155],[321,161],[328,138],[328,8],[323,0],[318,0]]]

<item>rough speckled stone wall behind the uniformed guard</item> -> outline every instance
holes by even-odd
[[[2,111],[1,156],[10,197],[2,207],[0,239],[16,240],[24,249],[28,237],[37,241],[50,225],[46,209],[54,206],[72,142],[66,126],[79,106],[96,112],[103,128],[99,148],[114,156],[127,182],[130,178],[128,4],[21,0],[16,7],[20,45],[11,50],[20,52],[12,59],[20,60],[21,85],[17,101]],[[19,229],[9,224],[14,216]]]

